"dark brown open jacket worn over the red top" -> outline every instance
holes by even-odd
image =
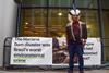
[[[68,44],[72,42],[72,41],[75,41],[75,40],[74,40],[74,37],[72,36],[71,25],[72,25],[72,23],[69,23],[69,24],[66,25],[66,42],[68,42]],[[81,28],[80,38],[81,38],[81,39],[87,39],[87,28],[86,28],[86,24],[80,22],[80,28]],[[81,41],[81,39],[78,40],[78,42]]]

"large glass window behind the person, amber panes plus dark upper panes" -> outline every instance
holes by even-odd
[[[49,7],[41,8],[47,4]],[[88,37],[99,37],[99,26],[97,10],[90,10],[97,7],[97,0],[75,0],[76,7],[88,8],[81,10],[81,20],[87,24]],[[68,23],[68,12],[72,7],[73,0],[22,0],[24,4],[29,4],[37,8],[23,8],[21,12],[20,36],[45,36],[48,31],[48,36],[52,34],[64,33],[64,27]],[[52,9],[52,7],[70,7],[64,9]],[[47,10],[48,9],[48,10]]]

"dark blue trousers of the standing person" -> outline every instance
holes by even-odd
[[[69,61],[69,70],[73,71],[74,68],[74,54],[76,53],[78,57],[78,69],[80,71],[83,71],[84,61],[83,61],[83,45],[82,44],[70,44],[68,45],[69,48],[69,54],[70,54],[70,61]]]

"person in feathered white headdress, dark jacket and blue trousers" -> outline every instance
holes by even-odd
[[[69,73],[73,73],[74,54],[78,58],[80,73],[84,73],[83,48],[87,39],[86,24],[80,21],[78,9],[71,10],[68,14],[68,20],[71,21],[66,25],[66,45],[69,49]]]

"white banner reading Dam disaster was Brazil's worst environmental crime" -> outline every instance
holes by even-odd
[[[45,37],[12,38],[10,64],[51,65],[52,38],[45,38]]]

